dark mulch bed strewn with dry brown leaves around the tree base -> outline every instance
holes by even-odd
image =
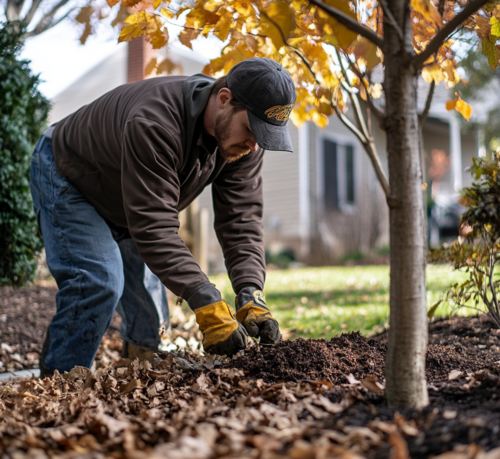
[[[24,293],[26,310],[37,292]],[[18,337],[5,344],[43,339],[41,321],[16,328],[0,304],[1,340]],[[115,332],[97,372],[0,384],[0,457],[500,458],[499,335],[481,316],[436,321],[429,337],[430,405],[416,411],[387,406],[384,335],[253,347],[222,364],[183,351],[151,365],[120,359]]]

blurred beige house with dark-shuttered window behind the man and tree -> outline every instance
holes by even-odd
[[[53,99],[51,122],[114,87],[144,78],[144,67],[152,56],[141,39],[97,65]],[[185,74],[201,72],[206,59],[185,47],[169,51],[172,61]],[[425,152],[442,150],[451,167],[439,183],[439,193],[453,196],[470,183],[464,172],[478,154],[478,129],[465,125],[445,110],[448,90],[436,88],[429,117],[423,129]],[[425,84],[419,105],[425,104]],[[385,133],[373,121],[375,144],[382,164],[387,165]],[[349,252],[368,252],[388,244],[389,218],[385,197],[368,156],[356,137],[336,117],[325,129],[305,123],[297,129],[289,123],[294,153],[266,152],[263,168],[264,231],[271,254],[289,253],[308,264],[331,264]],[[193,237],[198,262],[210,272],[224,269],[222,252],[213,230],[211,190],[207,188],[191,207],[183,233],[190,245]],[[182,225],[181,225],[182,226]],[[195,244],[196,245],[196,244]]]

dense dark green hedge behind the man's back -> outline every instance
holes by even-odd
[[[0,285],[16,286],[33,278],[43,247],[29,166],[50,107],[29,61],[19,59],[22,37],[19,23],[0,23]]]

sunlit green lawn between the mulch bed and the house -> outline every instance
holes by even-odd
[[[443,298],[449,286],[466,275],[448,265],[427,268],[427,305]],[[234,292],[227,275],[211,281],[234,306]],[[273,316],[287,338],[329,339],[342,332],[372,335],[382,331],[389,317],[389,267],[355,266],[270,271],[264,291]],[[436,316],[448,315],[441,305]],[[474,311],[472,311],[474,312]],[[461,309],[460,314],[471,311]]]

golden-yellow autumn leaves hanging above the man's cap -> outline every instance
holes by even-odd
[[[119,13],[114,25],[122,23],[120,41],[143,36],[153,48],[163,48],[169,42],[166,27],[169,22],[183,26],[179,28],[178,38],[189,48],[193,40],[201,37],[214,35],[220,39],[225,43],[224,49],[205,67],[207,74],[225,74],[238,62],[251,57],[265,56],[281,62],[297,84],[293,122],[300,125],[312,120],[320,126],[325,126],[334,112],[341,115],[346,111],[349,91],[362,99],[367,96],[379,99],[383,91],[374,70],[384,62],[383,52],[374,40],[345,27],[343,21],[332,17],[323,5],[335,8],[374,37],[382,37],[384,26],[391,21],[384,14],[383,3],[375,0],[198,0],[191,4],[170,0],[108,0],[109,6],[116,7]],[[416,53],[426,49],[464,4],[446,0],[438,4],[430,0],[411,1],[412,41]],[[92,33],[96,18],[108,14],[105,11],[95,2],[81,9],[76,19],[84,25],[82,40]],[[500,37],[499,18],[500,6],[489,2],[460,26],[462,36],[466,34],[469,41],[474,37],[480,43],[493,68],[500,58],[496,45]],[[422,63],[421,75],[425,81],[444,82],[449,86],[459,81],[454,42],[455,37],[445,40]],[[173,63],[163,60],[151,62],[148,71],[169,74],[177,69]],[[448,101],[447,109],[456,109],[466,119],[471,114],[470,107],[459,95]]]

